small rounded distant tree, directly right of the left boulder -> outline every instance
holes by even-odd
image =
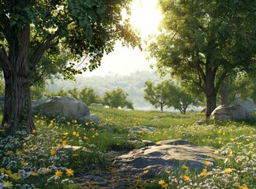
[[[117,87],[116,90],[106,91],[103,96],[103,102],[110,108],[127,107],[128,109],[134,109],[132,102],[129,101],[127,97],[128,94],[125,93],[121,87]]]

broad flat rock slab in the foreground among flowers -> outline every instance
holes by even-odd
[[[113,164],[121,172],[132,172],[142,177],[165,175],[165,170],[178,169],[182,165],[189,167],[191,172],[201,172],[205,161],[214,164],[215,159],[220,158],[213,154],[215,150],[213,147],[191,144],[148,146],[117,157]],[[148,172],[145,173],[145,170]]]

